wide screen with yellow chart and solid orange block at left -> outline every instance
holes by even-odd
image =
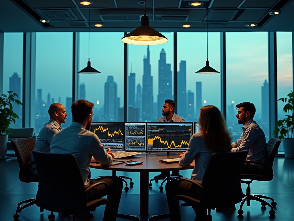
[[[186,151],[192,122],[147,123],[147,151]]]

